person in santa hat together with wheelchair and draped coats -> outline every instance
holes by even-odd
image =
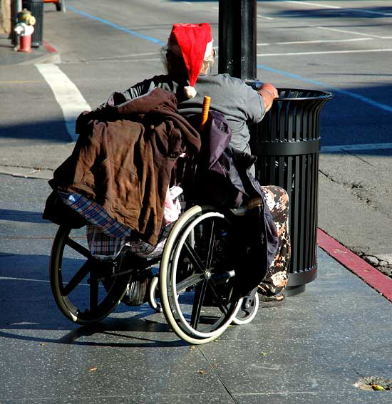
[[[120,271],[113,259],[124,251],[150,260],[150,266],[160,259],[160,294],[170,312],[164,310],[165,316],[192,343],[214,338],[232,320],[239,297],[251,289],[253,294],[257,290],[261,306],[284,302],[288,196],[280,187],[254,180],[248,129],[271,108],[277,89],[264,83],[254,90],[228,74],[211,75],[214,59],[209,24],[174,24],[165,48],[167,74],[115,92],[96,110],[79,116],[80,136],[49,182],[53,194],[43,215],[71,228],[87,225],[88,249],[70,240],[69,228],[61,229],[51,255],[53,294],[72,321],[99,321],[118,304],[118,296],[123,299],[121,276],[126,271],[121,265],[128,265],[129,254]],[[205,96],[211,98],[210,115],[201,129]],[[179,202],[182,193],[185,212]],[[87,264],[63,286],[66,245],[83,254]],[[111,259],[117,277],[103,281],[105,269],[91,269],[101,267],[97,258]],[[234,267],[243,268],[245,276],[242,290],[231,297]],[[96,286],[83,314],[68,294],[87,273]],[[99,282],[113,291],[100,303]],[[192,290],[201,302],[210,294],[224,314],[214,331],[199,331],[200,305],[193,306],[189,317],[184,314],[186,299],[179,296]],[[138,293],[147,292],[142,288]]]

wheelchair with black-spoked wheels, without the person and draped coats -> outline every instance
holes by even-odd
[[[145,276],[140,304],[148,302],[162,311],[172,331],[187,343],[207,343],[232,323],[249,323],[259,299],[256,289],[244,297],[239,290],[232,210],[186,201],[162,254],[153,259],[140,259],[129,251],[115,259],[99,259],[91,254],[83,228],[61,225],[49,264],[58,309],[75,323],[96,323],[125,302],[138,274],[150,274]],[[151,269],[158,266],[154,275]]]

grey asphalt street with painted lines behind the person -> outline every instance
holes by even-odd
[[[68,0],[67,12],[58,13],[46,4],[43,36],[59,57],[45,68],[0,68],[0,165],[55,169],[71,152],[81,110],[163,71],[161,46],[172,23],[210,22],[218,46],[218,5]],[[384,1],[257,1],[257,78],[334,93],[321,113],[319,227],[361,256],[378,257],[372,264],[386,273],[391,23]]]

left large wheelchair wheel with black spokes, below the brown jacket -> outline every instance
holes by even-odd
[[[130,280],[129,273],[115,275],[117,267],[117,261],[106,262],[91,256],[86,227],[59,227],[49,274],[61,313],[79,324],[95,323],[108,316],[120,303]]]

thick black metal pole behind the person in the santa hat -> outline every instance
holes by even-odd
[[[256,78],[256,0],[220,0],[218,71]]]

